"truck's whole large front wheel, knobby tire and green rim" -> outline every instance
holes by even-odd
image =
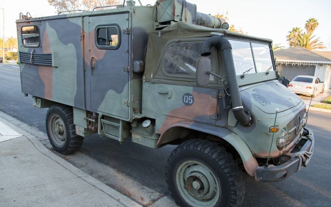
[[[194,139],[180,144],[167,161],[166,181],[180,206],[239,206],[241,170],[224,147]]]

